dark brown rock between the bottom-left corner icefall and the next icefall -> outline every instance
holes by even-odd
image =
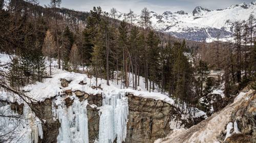
[[[44,124],[42,124],[44,137],[42,139],[39,138],[38,142],[57,142],[60,123],[58,120],[54,120],[53,118],[52,99],[46,99],[44,102],[34,103],[33,109],[38,118],[46,121]]]

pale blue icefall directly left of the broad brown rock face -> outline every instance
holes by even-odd
[[[123,91],[103,94],[100,107],[99,140],[98,143],[124,141],[128,117],[128,101]]]

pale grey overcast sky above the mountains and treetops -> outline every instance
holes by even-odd
[[[122,13],[129,9],[140,13],[147,7],[150,11],[163,13],[164,11],[176,12],[184,10],[192,12],[196,6],[209,9],[224,9],[231,5],[250,3],[253,0],[62,0],[61,7],[78,11],[90,11],[94,6],[100,6],[104,11],[109,12],[111,8],[116,8]],[[50,0],[39,0],[39,5],[48,5]]]

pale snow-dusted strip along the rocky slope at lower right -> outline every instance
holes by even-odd
[[[227,105],[221,111],[214,113],[208,119],[200,122],[199,124],[192,126],[191,128],[185,129],[176,129],[165,138],[160,138],[155,141],[155,143],[170,143],[170,142],[218,142],[218,137],[226,129],[226,138],[229,137],[232,133],[239,133],[237,122],[229,123],[229,119],[232,111],[241,106],[240,104],[243,101],[246,101],[248,95],[250,95],[253,90],[250,90],[247,93],[240,93],[238,98],[234,100],[232,104]],[[227,126],[226,126],[227,125]],[[226,128],[225,128],[226,127]],[[234,128],[234,131],[231,132],[231,129]]]

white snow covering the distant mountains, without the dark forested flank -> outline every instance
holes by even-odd
[[[197,32],[204,31],[208,34],[208,38],[206,42],[216,41],[217,36],[210,35],[209,30],[213,28],[217,28],[219,31],[225,31],[228,35],[221,36],[220,41],[229,41],[232,36],[232,23],[234,21],[247,20],[250,14],[256,15],[256,2],[252,2],[250,4],[240,4],[238,6],[230,6],[223,10],[202,10],[200,7],[200,11],[197,14],[185,13],[171,13],[164,12],[163,14],[158,14],[156,12],[151,12],[152,18],[152,27],[160,32],[174,32],[174,33],[186,33],[186,32]],[[245,9],[243,6],[247,6]],[[124,16],[120,14],[120,20],[124,20]],[[135,24],[139,25],[139,17],[137,15],[135,18]],[[128,21],[129,22],[129,21]],[[177,35],[176,35],[177,36]],[[213,37],[214,36],[214,37]]]

